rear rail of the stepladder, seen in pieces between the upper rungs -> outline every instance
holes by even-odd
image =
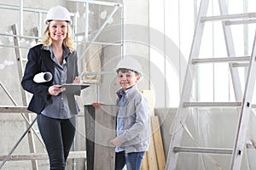
[[[225,3],[225,1],[218,0],[218,5],[221,15],[228,14],[227,4]],[[226,26],[224,21],[222,21],[222,26],[224,30],[224,39],[226,43],[228,57],[236,56],[231,28],[230,26]],[[229,64],[229,66],[236,101],[241,101],[242,91],[238,68],[234,68],[232,64]]]

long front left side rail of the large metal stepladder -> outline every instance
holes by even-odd
[[[174,170],[177,166],[178,153],[174,152],[173,149],[175,146],[179,146],[181,144],[181,140],[183,136],[183,127],[181,123],[183,123],[185,120],[185,117],[186,117],[185,114],[188,114],[188,109],[183,107],[183,102],[189,101],[189,97],[192,89],[192,82],[194,78],[194,70],[195,70],[195,66],[190,66],[190,65],[193,65],[192,59],[198,58],[198,55],[199,55],[201,38],[202,38],[204,24],[205,24],[201,22],[200,19],[201,19],[201,16],[207,15],[208,4],[209,4],[209,0],[201,1],[200,8],[198,11],[198,18],[195,25],[194,37],[193,37],[193,42],[192,42],[191,50],[189,54],[187,71],[186,71],[184,82],[183,82],[183,92],[180,99],[179,107],[177,109],[177,114],[173,120],[172,128],[170,129],[171,141],[170,141],[168,156],[166,160],[166,170]],[[175,133],[172,134],[172,130]]]

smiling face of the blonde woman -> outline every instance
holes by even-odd
[[[63,41],[67,37],[67,22],[65,20],[52,20],[49,22],[49,36],[52,41]]]

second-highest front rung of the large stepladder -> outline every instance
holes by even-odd
[[[251,57],[222,57],[222,58],[207,58],[207,59],[192,59],[193,64],[201,64],[201,63],[221,63],[221,62],[239,62],[239,61],[249,61]]]

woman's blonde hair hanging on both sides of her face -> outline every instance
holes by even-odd
[[[52,43],[52,39],[49,36],[49,23],[47,24],[47,26],[45,27],[44,32],[43,32],[43,40],[42,40],[41,43],[43,43],[44,46],[50,46],[51,43]],[[69,26],[69,24],[67,24],[67,37],[63,40],[63,44],[70,51],[74,51],[74,48],[73,48],[73,33],[72,33],[72,28],[71,28],[71,26]]]

